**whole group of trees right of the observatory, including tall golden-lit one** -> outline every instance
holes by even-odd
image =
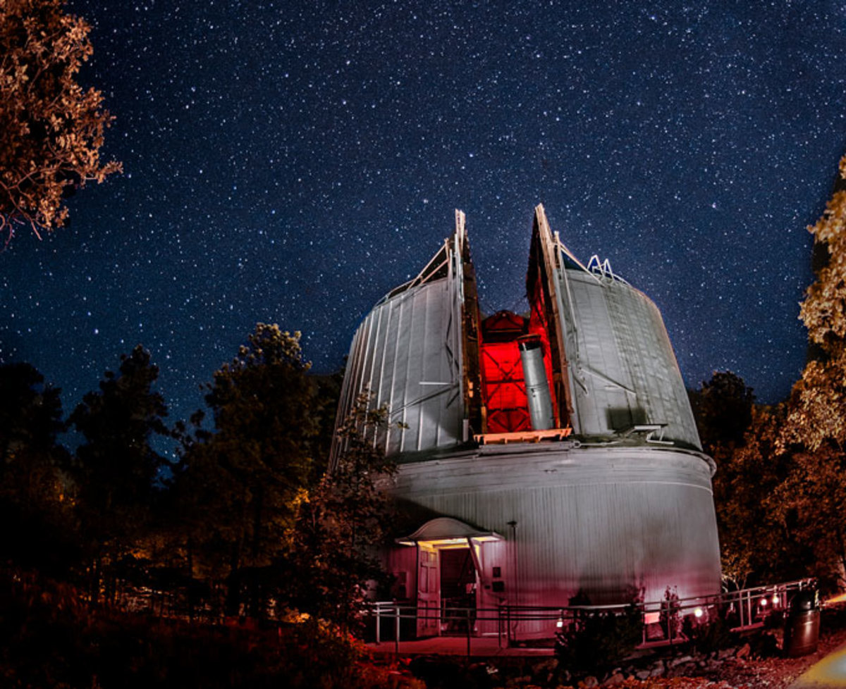
[[[738,376],[693,395],[727,584],[818,577],[846,588],[846,157],[816,224],[815,282],[801,304],[808,362],[784,402],[756,405]]]

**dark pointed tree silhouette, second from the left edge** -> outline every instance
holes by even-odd
[[[155,484],[167,462],[151,443],[157,435],[170,435],[164,422],[168,407],[153,390],[157,378],[150,353],[138,345],[121,357],[118,374],[107,371],[100,390],[87,393],[69,419],[85,437],[76,451],[75,478],[83,530],[91,539],[95,595],[100,568],[129,554],[157,500]]]

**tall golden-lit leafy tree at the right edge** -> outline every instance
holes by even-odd
[[[791,520],[815,562],[814,573],[846,583],[846,156],[826,211],[808,228],[815,239],[816,281],[801,305],[809,361],[788,400],[779,440],[791,471],[777,510]],[[838,582],[839,580],[839,582]]]

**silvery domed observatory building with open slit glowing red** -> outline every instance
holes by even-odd
[[[541,205],[526,295],[527,314],[480,313],[456,211],[453,236],[353,339],[338,418],[364,389],[389,410],[373,441],[398,462],[387,489],[403,518],[385,563],[419,636],[442,631],[444,604],[720,590],[715,466],[656,305],[607,262],[580,263]],[[550,636],[544,624],[520,634]]]

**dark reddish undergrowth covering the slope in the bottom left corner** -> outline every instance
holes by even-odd
[[[74,588],[0,572],[0,686],[424,689],[324,622],[266,629],[91,610]]]

